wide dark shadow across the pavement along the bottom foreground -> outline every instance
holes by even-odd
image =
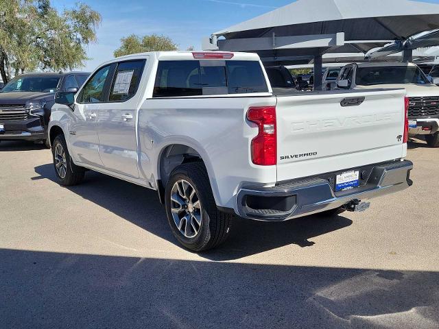
[[[0,249],[2,328],[439,328],[438,272]]]

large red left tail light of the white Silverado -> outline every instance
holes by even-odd
[[[274,166],[277,163],[276,107],[249,108],[247,119],[259,127],[258,135],[252,140],[252,162]]]

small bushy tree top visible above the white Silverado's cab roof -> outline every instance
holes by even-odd
[[[177,50],[178,45],[167,36],[151,34],[150,36],[137,36],[131,34],[121,38],[121,47],[115,51],[115,57],[126,56],[132,53],[146,53],[148,51]]]

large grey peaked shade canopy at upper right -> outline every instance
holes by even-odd
[[[366,45],[362,51],[368,51],[432,29],[439,29],[439,5],[433,3],[298,0],[215,32],[209,42],[204,40],[203,48],[253,51],[270,63],[314,58],[316,72],[321,72],[321,56],[329,49],[355,46],[357,42]]]

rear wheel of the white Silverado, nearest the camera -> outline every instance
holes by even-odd
[[[201,162],[182,164],[171,173],[165,207],[172,233],[193,252],[217,247],[230,233],[233,216],[218,210]]]

